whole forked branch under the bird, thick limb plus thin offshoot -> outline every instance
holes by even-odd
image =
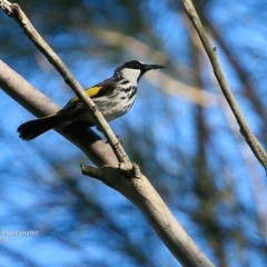
[[[10,4],[6,0],[0,0],[0,7],[4,9],[4,11],[13,16],[14,19],[19,22],[21,28],[26,31],[26,33],[32,39],[36,46],[48,57],[48,59],[53,62],[55,67],[59,70],[59,72],[63,76],[66,82],[71,86],[71,88],[76,88],[75,91],[77,95],[82,98],[83,89],[79,86],[78,82],[75,81],[71,73],[58,58],[58,56],[50,50],[50,48],[46,44],[46,42],[41,39],[38,32],[30,24],[29,20],[24,17],[22,11],[20,10],[18,4]],[[48,50],[47,50],[48,49]],[[16,83],[18,82],[18,83]],[[33,113],[47,115],[58,110],[58,107],[51,103],[40,92],[37,92],[29,83],[26,81],[22,82],[22,78],[18,77],[18,75],[10,70],[4,63],[0,61],[0,86],[16,100],[26,106],[29,110],[33,111]],[[28,101],[29,99],[33,99]],[[90,107],[90,110],[95,111],[96,119],[100,122],[101,127],[106,128],[107,122],[103,120],[101,113],[95,109],[93,102],[87,97],[85,97],[85,102],[87,102]],[[48,103],[48,105],[47,105]],[[49,106],[50,105],[50,106]],[[43,108],[44,107],[44,108]],[[50,107],[50,108],[48,108]],[[63,127],[63,126],[62,126]],[[187,235],[184,228],[179,225],[179,222],[175,219],[168,207],[165,205],[164,200],[150,185],[148,179],[140,174],[139,168],[136,165],[132,165],[129,169],[128,167],[128,157],[123,157],[120,154],[122,149],[120,144],[117,141],[117,138],[113,138],[113,134],[111,132],[111,137],[109,136],[109,131],[106,135],[109,137],[108,140],[111,144],[116,156],[119,158],[120,165],[118,167],[118,160],[109,145],[103,145],[98,137],[92,135],[90,130],[82,131],[73,131],[73,132],[63,132],[63,128],[58,127],[57,130],[60,134],[63,134],[69,140],[79,146],[82,151],[85,151],[90,158],[91,148],[96,148],[97,144],[100,142],[99,148],[105,148],[107,154],[97,154],[93,151],[93,156],[97,158],[95,162],[98,166],[102,166],[99,168],[81,166],[83,174],[93,176],[97,179],[100,179],[108,186],[115,188],[119,192],[121,192],[126,198],[132,201],[146,216],[147,220],[161,238],[161,240],[166,244],[166,246],[170,249],[174,256],[184,265],[191,267],[211,267],[212,264],[206,258],[206,256],[199,250],[196,244],[191,240],[191,238]],[[109,127],[107,128],[110,129]],[[111,131],[111,130],[110,130]],[[82,132],[82,134],[81,134]],[[92,135],[92,136],[91,136]],[[92,138],[88,141],[87,137]],[[88,144],[89,142],[89,144]],[[81,146],[80,146],[81,145]],[[83,147],[86,146],[86,148]],[[119,150],[117,150],[117,148]],[[103,151],[102,149],[101,151]],[[111,150],[111,151],[110,151]],[[121,158],[122,157],[122,158]],[[131,164],[130,164],[131,165]]]

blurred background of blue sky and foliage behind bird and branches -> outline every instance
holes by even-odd
[[[167,66],[141,79],[132,109],[111,127],[216,266],[266,266],[266,174],[239,134],[181,1],[17,2],[85,88],[131,59]],[[194,2],[266,148],[267,2]],[[2,11],[0,58],[57,103],[73,96]],[[1,266],[179,266],[131,202],[80,174],[80,162],[90,162],[72,144],[55,131],[20,140],[18,126],[33,116],[0,96]]]

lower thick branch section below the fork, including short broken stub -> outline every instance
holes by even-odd
[[[135,178],[137,174],[134,174],[132,177],[126,179],[121,177],[119,168],[102,166],[101,169],[97,169],[85,165],[81,168],[85,175],[102,180],[134,202],[182,266],[214,266],[179,225],[144,175],[137,179]],[[137,166],[134,169],[139,172]]]

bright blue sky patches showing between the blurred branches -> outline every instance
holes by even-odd
[[[159,2],[156,6],[154,1],[148,1],[146,4],[144,3],[145,12],[146,8],[149,8],[147,23],[152,24],[152,34],[160,36],[160,52],[166,55],[170,63],[167,69],[160,70],[160,72],[189,87],[194,86],[195,66],[190,58],[190,36],[185,18],[175,9],[167,7],[165,2]],[[264,1],[247,1],[246,3],[224,1],[224,4],[221,4],[221,1],[210,1],[207,6],[208,18],[224,38],[231,43],[231,51],[245,66],[244,68],[248,73],[251,73],[254,89],[261,92],[263,99],[266,98],[264,73],[267,59],[266,34],[264,34],[267,31],[263,22],[266,14],[265,10],[267,10],[265,8]],[[118,13],[122,11],[118,9]],[[125,11],[122,13],[123,16],[127,14]],[[2,14],[0,16],[2,17]],[[106,16],[108,17],[108,14]],[[107,19],[105,14],[101,18],[102,21]],[[0,26],[2,34],[3,28],[6,30],[14,29],[17,32],[17,26],[11,19],[4,19],[4,27]],[[42,30],[46,29],[46,22],[49,22],[49,20],[39,21],[38,17],[34,18],[34,21],[39,23],[38,26]],[[85,29],[79,32],[73,31],[73,29],[68,32],[58,31],[57,34],[51,36],[43,32],[44,38],[49,40],[56,51],[60,51],[60,57],[85,88],[110,77],[117,66],[131,59],[134,55],[137,59],[142,59],[140,56],[138,58],[137,49],[132,53],[123,51],[109,62],[105,57],[109,53],[109,49],[112,51],[112,48],[101,43],[103,47],[101,49],[98,42],[99,50],[96,49],[97,52],[95,51],[96,53],[92,57],[92,53],[90,53],[92,40],[88,36],[83,37],[85,32]],[[16,40],[21,38],[24,38],[23,33],[18,33]],[[145,44],[151,47],[151,50],[155,51],[156,44],[148,43],[149,38],[144,32],[137,34],[136,38],[139,38],[140,41],[145,40]],[[9,41],[16,42],[14,39]],[[250,99],[244,97],[243,81],[237,77],[236,70],[230,66],[219,43],[215,40],[212,40],[212,43],[217,47],[217,53],[226,78],[249,126],[254,132],[261,136],[265,125],[251,107]],[[77,44],[77,49],[73,44]],[[27,44],[22,43],[21,47]],[[87,50],[83,46],[88,46],[90,49]],[[79,51],[78,47],[81,47],[81,50],[83,49],[83,53]],[[30,48],[28,59],[17,56],[18,61],[14,61],[13,52],[10,53],[12,53],[12,58],[0,49],[3,61],[10,63],[30,83],[57,103],[63,106],[73,96],[62,78],[36,48]],[[73,58],[76,58],[75,62]],[[205,58],[204,53],[201,61],[204,89],[215,96],[221,96],[218,85],[212,78],[210,65]],[[149,53],[142,60],[154,62],[155,53]],[[194,164],[191,164],[198,148],[197,106],[187,101],[179,92],[166,92],[161,86],[164,83],[160,81],[158,87],[152,86],[149,79],[154,79],[154,75],[149,73],[147,76],[148,80],[145,77],[140,81],[138,98],[130,112],[121,119],[112,121],[111,126],[123,140],[126,149],[135,151],[131,152],[134,160],[139,158],[137,151],[148,158],[144,168],[152,185],[159,189],[176,217],[204,253],[216,263],[216,255],[202,235],[201,225],[195,221],[185,210],[186,208],[197,208],[199,205],[199,200],[192,191],[196,174]],[[159,263],[161,266],[165,263],[168,263],[168,266],[178,266],[170,253],[148,227],[141,214],[128,200],[99,181],[81,176],[79,164],[88,164],[88,160],[71,144],[55,131],[49,131],[31,142],[21,141],[18,138],[17,128],[23,121],[32,119],[33,116],[1,90],[0,96],[2,99],[0,105],[0,113],[2,115],[0,118],[0,136],[4,140],[1,144],[0,152],[2,177],[0,189],[2,200],[1,225],[3,229],[28,230],[33,227],[33,229],[40,231],[38,237],[10,238],[7,243],[8,247],[29,256],[32,260],[37,260],[40,266],[71,266],[71,264],[75,265],[77,257],[83,260],[81,260],[81,266],[82,263],[86,266],[88,258],[93,260],[92,257],[99,257],[98,260],[101,261],[102,255],[109,257],[110,250],[108,249],[110,248],[113,249],[111,249],[113,257],[111,261],[108,261],[108,266],[117,266],[121,263],[123,263],[123,266],[138,266],[129,255],[116,254],[116,246],[120,244],[120,236],[116,235],[115,229],[110,234],[111,226],[105,221],[105,219],[108,219],[115,221],[121,231],[125,230],[130,240],[135,241],[135,237],[140,237],[140,240],[142,240],[142,237],[147,235],[149,240],[147,250],[151,249],[147,255],[151,257],[151,263]],[[261,215],[266,219],[264,209],[267,200],[265,171],[238,134],[235,118],[229,113],[226,103],[224,106],[217,102],[210,103],[204,110],[204,117],[211,132],[211,137],[207,141],[207,158],[209,169],[212,171],[214,184],[217,189],[229,188],[225,190],[229,195],[221,197],[221,202],[218,204],[218,220],[221,220],[226,228],[228,225],[240,224],[244,233],[251,236],[251,238],[248,238],[250,241],[266,243],[266,237],[261,236],[261,233],[255,226],[256,222],[248,219],[256,218],[258,208],[261,209]],[[146,138],[151,136],[154,140],[146,145]],[[134,148],[136,150],[132,150],[132,140],[135,140]],[[180,157],[185,155],[187,155],[185,161],[179,161]],[[66,168],[59,168],[60,166],[66,166]],[[187,168],[186,171],[185,167]],[[161,177],[156,177],[157,169],[162,171],[160,172]],[[78,204],[81,200],[78,201],[73,197],[72,188],[65,179],[76,184],[88,201],[97,202],[106,214],[106,218],[103,219],[100,216],[101,219],[98,218],[97,222],[93,224],[90,220],[95,218],[90,214],[95,212],[92,208],[92,210],[85,211],[86,214],[89,212],[86,217],[89,218],[89,222],[86,224],[81,220],[78,224],[79,219],[76,217],[76,210],[79,210]],[[187,179],[188,182],[184,182],[184,179]],[[259,184],[263,186],[258,188]],[[224,190],[221,189],[221,191]],[[218,194],[221,191],[218,190]],[[237,204],[243,207],[244,217],[237,216],[237,212],[235,212]],[[31,212],[36,216],[33,226],[30,225],[31,220],[24,220],[24,218],[33,216]],[[117,216],[113,216],[115,214]],[[263,227],[266,230],[266,222]],[[53,238],[52,234],[55,233],[61,235],[60,238]],[[115,239],[109,239],[109,236]],[[72,246],[69,246],[70,240],[73,241]],[[105,241],[108,244],[107,247],[101,246],[101,243]],[[65,243],[68,245],[65,246]],[[259,253],[260,249],[248,249],[253,247],[253,244],[249,244],[247,250],[243,251],[243,263],[239,263],[240,257],[235,256],[239,253],[236,244],[227,243],[225,247],[226,251],[229,251],[228,266],[243,266],[243,264],[245,266],[245,263],[257,263],[257,266],[265,266],[266,264],[266,256]],[[29,248],[32,253],[28,253]],[[38,254],[39,251],[41,254]],[[13,264],[12,257],[7,258],[6,265],[3,261],[3,266],[10,266],[11,264]],[[26,265],[21,264],[21,266]]]

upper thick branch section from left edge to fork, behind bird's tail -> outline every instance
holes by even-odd
[[[33,88],[14,70],[0,60],[0,88],[37,117],[43,117],[59,110],[59,106]],[[95,131],[79,129],[65,131],[67,125],[57,127],[57,131],[80,148],[97,166],[118,166],[118,160],[109,144]]]

